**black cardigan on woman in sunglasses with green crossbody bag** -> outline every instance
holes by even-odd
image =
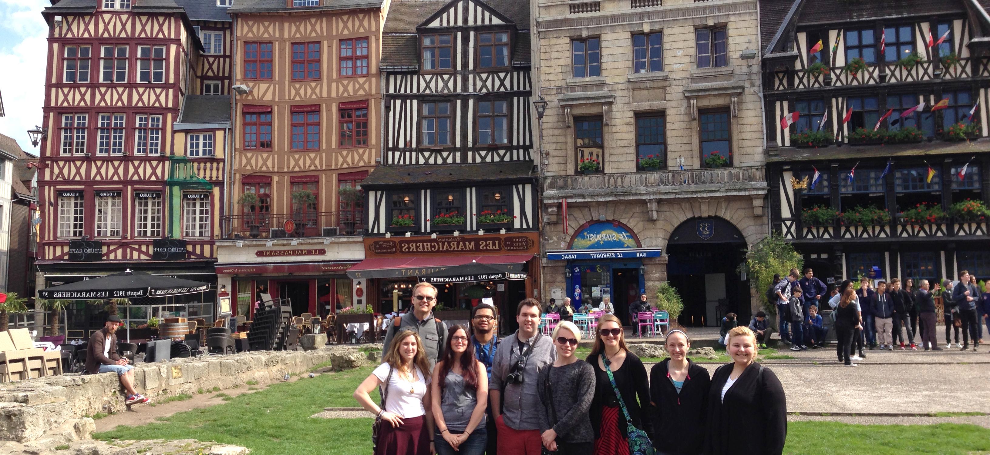
[[[588,356],[587,362],[595,369],[595,398],[591,401],[591,427],[595,429],[595,439],[601,436],[602,408],[615,400],[616,393],[612,390],[612,383],[609,382],[609,375],[598,367],[599,356]],[[622,394],[626,409],[633,418],[633,424],[637,428],[644,429],[644,422],[641,409],[649,406],[649,389],[646,381],[646,367],[643,361],[636,354],[626,351],[626,360],[623,361],[619,371],[613,371],[612,376],[616,378],[616,386]],[[639,396],[639,402],[637,401]],[[618,406],[618,402],[615,402]],[[626,431],[626,417],[622,410],[619,411],[619,432],[623,437],[629,437]]]

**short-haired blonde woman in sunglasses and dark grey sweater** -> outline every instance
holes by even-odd
[[[595,372],[574,356],[581,331],[573,322],[561,320],[550,338],[556,360],[540,372],[537,388],[544,404],[541,428],[546,450],[561,455],[591,455],[595,432],[588,409],[595,389]]]

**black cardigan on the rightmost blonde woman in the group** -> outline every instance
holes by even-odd
[[[787,400],[777,375],[753,363],[722,400],[733,372],[723,365],[712,376],[708,394],[706,455],[780,455],[787,437]]]

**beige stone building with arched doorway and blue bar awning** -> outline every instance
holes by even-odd
[[[755,311],[737,268],[768,226],[756,2],[533,8],[544,296],[628,318],[668,281],[681,324]]]

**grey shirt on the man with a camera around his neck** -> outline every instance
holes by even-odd
[[[513,429],[542,429],[545,426],[545,409],[540,400],[540,370],[556,360],[556,350],[549,336],[538,334],[525,340],[523,350],[519,349],[519,332],[502,339],[492,364],[492,379],[489,390],[502,392],[502,415],[505,424]],[[520,355],[530,344],[533,352],[523,368],[523,384],[509,384],[506,377],[512,371]]]

